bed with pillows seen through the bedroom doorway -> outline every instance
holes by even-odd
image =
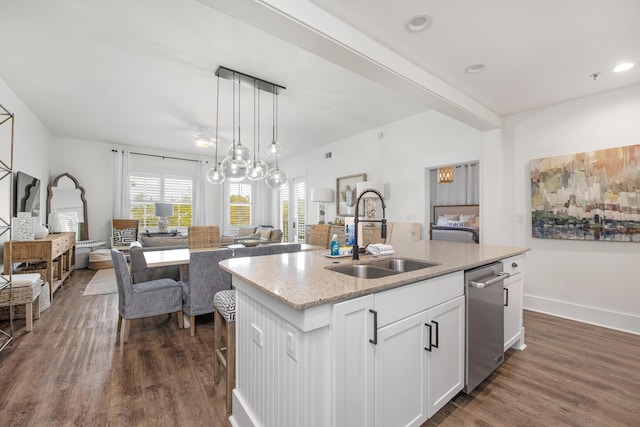
[[[480,243],[480,205],[434,206],[429,238]]]

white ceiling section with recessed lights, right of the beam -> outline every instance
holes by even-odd
[[[638,0],[312,1],[502,116],[640,83]],[[432,24],[410,33],[419,13]]]

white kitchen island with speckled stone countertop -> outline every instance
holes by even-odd
[[[527,249],[419,241],[395,250],[220,263],[237,291],[232,424],[420,425],[462,389],[464,271],[521,265]],[[437,265],[370,279],[332,270],[385,258]]]

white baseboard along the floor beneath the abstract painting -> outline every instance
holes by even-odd
[[[524,308],[552,316],[640,335],[640,316],[524,295]]]

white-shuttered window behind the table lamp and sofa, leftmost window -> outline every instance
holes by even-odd
[[[154,214],[156,202],[173,204],[173,215],[167,218],[169,228],[186,228],[191,225],[192,178],[132,173],[129,185],[131,218],[140,220],[140,228],[158,226],[158,217]]]

